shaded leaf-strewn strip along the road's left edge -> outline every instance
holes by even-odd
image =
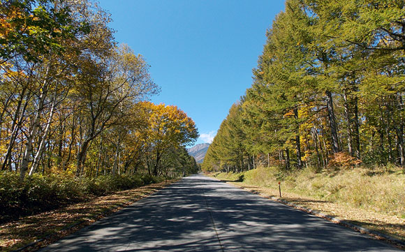
[[[2,223],[0,225],[0,251],[15,251],[23,247],[24,249],[19,251],[35,251],[161,190],[174,181],[177,180],[163,181],[158,184],[94,197],[86,202]]]

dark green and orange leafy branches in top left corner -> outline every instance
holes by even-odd
[[[78,24],[67,6],[55,8],[51,0],[1,0],[0,59],[21,55],[26,61],[42,61],[45,55],[65,50],[63,40],[89,32]]]

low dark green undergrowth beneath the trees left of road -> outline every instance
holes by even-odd
[[[21,181],[14,172],[0,174],[0,222],[9,218],[55,209],[94,195],[138,188],[162,181],[151,175],[106,175],[75,178],[35,174]]]

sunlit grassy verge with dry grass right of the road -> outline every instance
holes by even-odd
[[[242,173],[212,174],[248,191],[318,210],[405,242],[405,174],[384,170],[295,172],[258,168]]]

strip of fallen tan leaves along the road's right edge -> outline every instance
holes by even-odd
[[[251,191],[262,197],[270,198],[271,200],[282,200],[290,203],[288,205],[293,205],[300,209],[311,209],[315,210],[316,212],[321,212],[321,216],[327,215],[328,217],[351,223],[360,226],[361,228],[366,228],[367,230],[374,232],[376,231],[376,233],[388,235],[389,237],[398,239],[403,244],[397,244],[395,242],[391,243],[397,245],[400,249],[405,249],[405,218],[401,218],[395,214],[378,213],[372,209],[353,207],[353,205],[342,204],[341,202],[319,200],[316,197],[291,192],[283,187],[281,187],[282,197],[280,198],[278,185],[277,188],[258,186],[254,183],[249,183],[246,181],[238,181],[237,179],[233,180],[232,178],[235,176],[227,176],[224,173],[219,175],[212,174],[212,177],[223,179],[228,184],[233,184],[234,186],[242,188],[245,191]],[[373,234],[371,233],[371,235]],[[377,239],[385,239],[384,237],[378,237],[378,235],[373,236]],[[390,240],[388,240],[388,242],[390,242]]]

